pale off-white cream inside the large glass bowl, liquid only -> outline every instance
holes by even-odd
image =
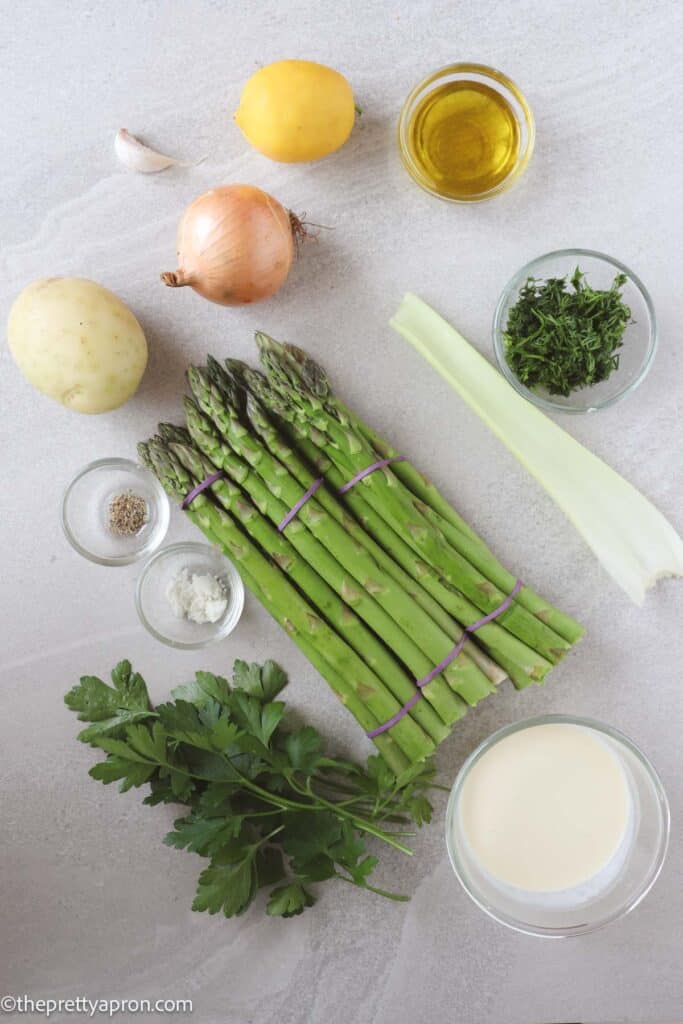
[[[590,898],[618,872],[632,817],[625,770],[606,741],[583,726],[546,723],[479,758],[454,827],[499,885]]]

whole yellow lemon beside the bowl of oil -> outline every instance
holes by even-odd
[[[319,160],[351,133],[353,93],[343,75],[312,60],[276,60],[245,85],[234,120],[254,148],[287,164]]]

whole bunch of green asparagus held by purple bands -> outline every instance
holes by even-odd
[[[186,426],[161,424],[139,455],[178,503],[222,471],[186,514],[374,733],[516,581],[410,462],[341,493],[397,453],[332,393],[303,351],[263,334],[256,340],[264,372],[212,357],[190,368]],[[279,530],[318,478],[323,485]],[[581,635],[522,586],[374,742],[400,776],[506,676],[517,688],[542,682]]]

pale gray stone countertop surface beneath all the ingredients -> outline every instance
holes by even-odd
[[[625,261],[656,306],[654,367],[623,404],[562,425],[683,528],[682,11],[661,0],[2,3],[2,314],[36,278],[88,276],[131,305],[151,346],[135,397],[94,418],[39,395],[0,349],[2,991],[190,998],[196,1024],[682,1019],[683,585],[664,583],[633,606],[545,492],[387,326],[412,290],[493,357],[493,310],[523,262],[567,246]],[[270,163],[232,124],[242,83],[283,56],[330,63],[353,84],[364,115],[336,157]],[[538,127],[518,187],[469,207],[420,191],[395,141],[409,89],[458,59],[507,72]],[[114,155],[122,126],[207,159],[135,176]],[[185,205],[236,180],[333,230],[306,247],[275,299],[226,310],[165,290],[159,272],[174,263]],[[123,656],[156,699],[196,669],[273,657],[291,674],[291,701],[341,748],[366,752],[254,600],[228,642],[173,651],[138,625],[138,567],[92,565],[60,532],[76,470],[133,456],[160,419],[178,417],[186,365],[208,350],[252,358],[256,328],[317,353],[349,403],[441,484],[502,560],[586,625],[546,687],[518,694],[506,684],[443,743],[439,766],[453,778],[490,731],[542,712],[593,716],[631,735],[661,774],[673,835],[659,881],[626,920],[566,941],[489,921],[452,873],[440,799],[415,856],[383,858],[382,881],[410,893],[408,904],[326,885],[293,921],[260,908],[239,921],[191,913],[201,862],[162,845],[173,810],[88,778],[91,752],[76,743],[62,695]],[[191,537],[175,515],[169,540]]]

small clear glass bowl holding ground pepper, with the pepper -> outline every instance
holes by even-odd
[[[157,478],[129,459],[98,459],[67,487],[61,525],[84,558],[129,565],[151,555],[168,529],[170,507]]]

